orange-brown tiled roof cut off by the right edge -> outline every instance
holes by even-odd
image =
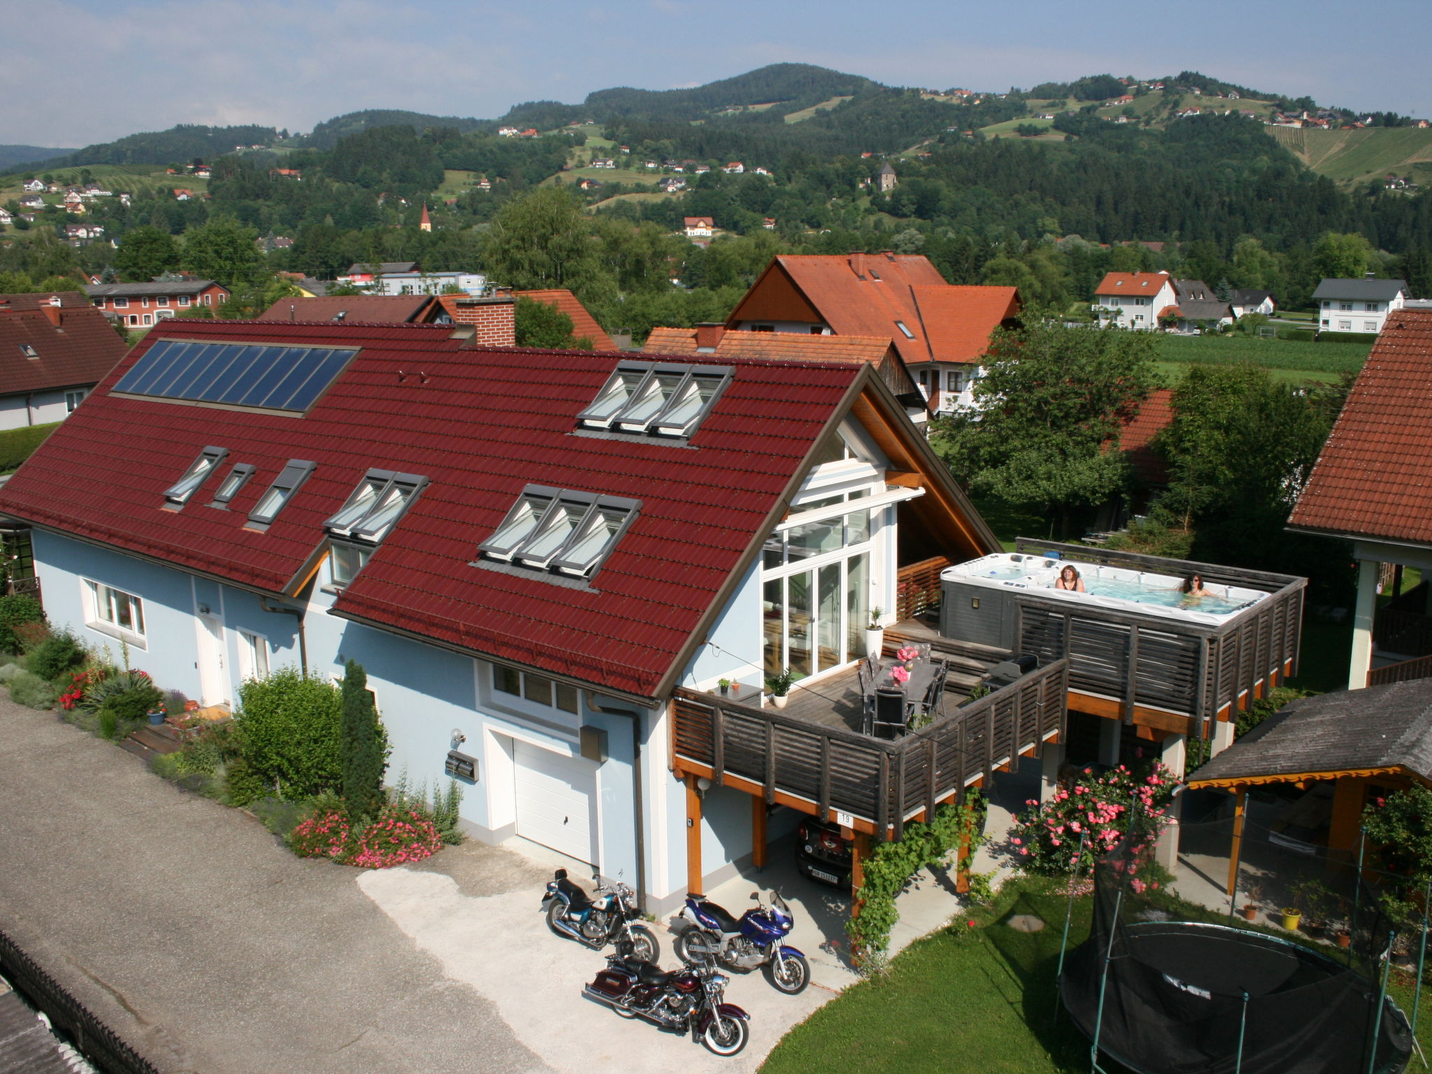
[[[1432,544],[1432,309],[1396,309],[1289,526]]]

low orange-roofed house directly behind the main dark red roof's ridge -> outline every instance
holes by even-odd
[[[865,362],[874,365],[916,425],[929,417],[925,397],[911,377],[894,341],[878,335],[796,335],[793,332],[732,332],[722,324],[696,328],[653,328],[646,354],[710,355],[712,361]]]

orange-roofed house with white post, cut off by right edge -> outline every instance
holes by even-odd
[[[1348,689],[1432,676],[1432,309],[1395,309],[1287,520],[1352,543]],[[1383,584],[1385,566],[1392,569]],[[1405,567],[1423,581],[1402,591]],[[1378,607],[1380,590],[1392,600]]]

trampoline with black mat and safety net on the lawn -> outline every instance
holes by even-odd
[[[1412,1030],[1386,998],[1390,929],[1366,916],[1346,958],[1249,928],[1179,921],[1151,839],[1094,868],[1094,921],[1060,998],[1100,1058],[1138,1074],[1396,1074]]]

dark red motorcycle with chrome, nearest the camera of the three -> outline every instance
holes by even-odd
[[[623,1018],[644,1018],[663,1030],[690,1034],[716,1055],[735,1055],[746,1047],[750,1015],[725,1002],[727,977],[710,961],[663,972],[637,959],[632,944],[620,941],[583,992]]]

